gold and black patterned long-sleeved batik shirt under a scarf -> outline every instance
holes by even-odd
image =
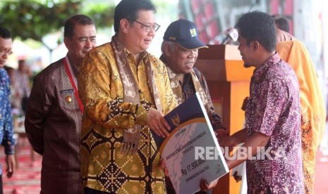
[[[147,84],[143,60],[126,51],[139,86],[142,105],[124,102],[123,84],[111,44],[90,51],[80,67],[78,90],[83,101],[81,174],[83,186],[110,193],[166,193],[159,153],[150,128],[145,126],[147,108],[156,108]],[[176,107],[166,67],[146,51],[159,91],[163,115]],[[140,145],[135,155],[123,155],[123,129],[141,124]]]

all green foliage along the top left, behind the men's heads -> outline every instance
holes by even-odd
[[[0,26],[22,40],[35,39],[62,29],[64,22],[75,14],[95,20],[97,28],[113,24],[114,7],[104,4],[83,5],[83,0],[5,0],[0,3]]]

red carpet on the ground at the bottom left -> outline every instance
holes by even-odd
[[[2,179],[4,181],[4,194],[37,194],[40,193],[40,177],[42,157],[34,153],[35,160],[32,161],[30,143],[27,138],[19,139],[19,150],[17,152],[18,167],[11,179],[6,177],[6,161],[4,147],[0,148],[0,162],[2,165]]]

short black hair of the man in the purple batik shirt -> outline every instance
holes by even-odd
[[[277,44],[276,27],[269,14],[260,11],[245,13],[238,20],[236,28],[248,45],[251,41],[259,41],[267,51],[275,50]]]

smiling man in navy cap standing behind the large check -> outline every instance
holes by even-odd
[[[196,25],[188,20],[176,20],[167,27],[163,39],[160,59],[166,65],[171,88],[178,104],[198,92],[215,132],[228,136],[229,130],[223,127],[221,118],[214,112],[204,75],[193,67],[198,58],[198,49],[207,48],[198,39]],[[167,182],[169,183],[169,180],[166,181],[168,193],[174,193],[174,188],[167,186],[169,185]]]

